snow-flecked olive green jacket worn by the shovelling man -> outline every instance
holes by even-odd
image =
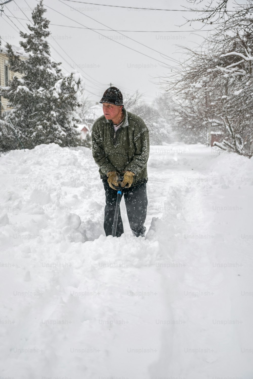
[[[148,181],[147,161],[149,133],[145,122],[123,108],[124,119],[114,132],[113,122],[99,117],[92,126],[92,155],[99,166],[101,179],[108,179],[107,172],[131,171],[133,186]]]

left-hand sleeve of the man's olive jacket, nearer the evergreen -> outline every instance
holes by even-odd
[[[116,171],[112,166],[109,159],[106,157],[105,151],[103,149],[102,137],[99,133],[99,128],[96,123],[92,127],[91,132],[91,143],[92,143],[92,156],[95,162],[98,164],[99,168],[103,174],[107,174],[109,171]]]

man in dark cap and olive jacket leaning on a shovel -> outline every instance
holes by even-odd
[[[148,128],[140,117],[125,110],[122,93],[118,88],[106,89],[100,103],[103,104],[104,116],[94,122],[91,136],[92,155],[99,166],[105,188],[105,234],[108,236],[112,233],[117,199],[114,186],[120,185],[123,187],[122,196],[124,194],[133,235],[145,236]],[[123,177],[122,182],[119,181],[119,175]],[[119,211],[116,236],[119,237],[122,233],[124,230]]]

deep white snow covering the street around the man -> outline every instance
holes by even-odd
[[[105,237],[91,150],[0,157],[0,377],[253,378],[253,163],[151,146],[146,239]]]

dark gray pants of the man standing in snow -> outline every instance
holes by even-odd
[[[117,191],[109,186],[107,180],[103,180],[103,185],[105,188],[106,201],[104,229],[105,235],[108,236],[112,234]],[[141,183],[130,188],[122,188],[121,198],[123,194],[126,204],[126,213],[133,235],[136,237],[144,236],[146,231],[144,222],[147,216],[148,205],[146,183]],[[121,236],[122,233],[124,233],[124,229],[119,209],[116,237]]]

